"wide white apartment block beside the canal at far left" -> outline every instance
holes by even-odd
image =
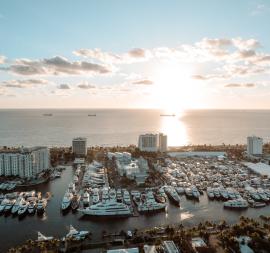
[[[0,175],[33,178],[50,167],[46,147],[0,150]]]

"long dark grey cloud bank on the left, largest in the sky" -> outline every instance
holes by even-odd
[[[111,69],[107,66],[86,61],[70,62],[62,56],[45,58],[42,60],[17,59],[7,68],[18,75],[79,75],[79,74],[107,74]]]

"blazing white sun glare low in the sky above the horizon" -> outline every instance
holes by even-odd
[[[160,65],[154,74],[157,106],[174,113],[197,106],[198,91],[194,91],[192,72],[192,66],[187,64],[170,62]]]

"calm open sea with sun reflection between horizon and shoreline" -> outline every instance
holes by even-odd
[[[43,116],[52,113],[53,116]],[[269,110],[192,110],[161,117],[159,110],[0,110],[0,146],[70,146],[75,136],[88,145],[137,144],[138,135],[164,132],[170,146],[246,143],[270,136]],[[96,114],[96,117],[88,117]]]

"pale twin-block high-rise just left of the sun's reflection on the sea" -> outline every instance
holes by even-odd
[[[141,134],[139,136],[138,148],[147,152],[166,152],[167,135],[159,134]]]

